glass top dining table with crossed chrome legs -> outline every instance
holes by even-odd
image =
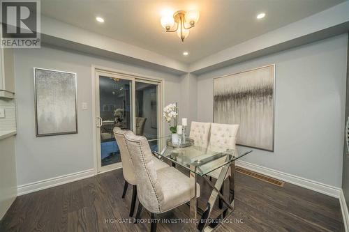
[[[193,139],[187,139],[190,142],[186,142],[188,146],[178,147],[172,145],[170,137],[160,137],[157,139],[150,139],[149,145],[151,151],[158,158],[164,158],[163,160],[170,160],[173,167],[183,167],[190,173],[190,180],[193,183],[193,190],[191,194],[196,194],[198,177],[200,176],[211,187],[211,194],[207,201],[207,206],[204,211],[200,213],[198,208],[198,199],[193,197],[190,201],[190,217],[194,219],[191,223],[189,231],[214,231],[223,219],[229,217],[229,215],[235,209],[235,160],[244,157],[252,152],[252,150],[239,153],[237,149],[226,149],[227,146],[214,146],[210,145],[200,146],[200,141],[194,141]],[[227,144],[229,147],[229,144]],[[235,147],[235,144],[231,147]],[[178,164],[178,165],[177,165]],[[217,178],[215,182],[211,182],[208,176]],[[225,178],[229,179],[229,196],[223,196],[223,184]],[[211,217],[211,212],[215,201],[219,199],[219,208],[221,214],[216,217],[218,223],[209,223],[208,219]],[[223,203],[225,207],[223,207]],[[198,212],[201,215],[199,220]]]

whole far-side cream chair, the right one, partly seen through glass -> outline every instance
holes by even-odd
[[[219,124],[211,123],[211,133],[209,136],[209,150],[224,152],[226,150],[236,150],[237,132],[239,131],[239,125],[235,124]],[[219,173],[221,173],[222,168],[216,169],[207,176],[210,178],[218,179]],[[231,169],[228,169],[228,173],[225,178],[231,176]],[[224,191],[224,184],[221,188],[221,194]],[[222,208],[222,200],[219,199],[219,208]]]

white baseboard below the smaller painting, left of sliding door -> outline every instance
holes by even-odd
[[[54,187],[57,185],[64,185],[66,183],[70,183],[76,180],[82,180],[84,178],[89,178],[91,176],[95,176],[95,170],[89,169],[85,171],[78,171],[75,173],[70,173],[64,176],[57,176],[55,178],[50,178],[46,180],[36,181],[34,183],[29,183],[25,185],[17,186],[17,196],[23,194],[29,194],[31,192],[36,192],[39,190],[45,190],[49,187]]]

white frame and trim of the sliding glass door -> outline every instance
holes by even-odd
[[[96,128],[96,113],[97,113],[97,107],[99,105],[96,104],[96,97],[97,97],[97,84],[96,84],[96,73],[97,72],[103,72],[106,75],[112,75],[112,76],[117,76],[120,77],[122,79],[133,79],[133,86],[135,86],[135,81],[140,81],[140,82],[145,82],[145,83],[151,83],[154,84],[154,82],[156,82],[158,84],[158,133],[159,136],[161,136],[161,134],[163,134],[163,126],[162,126],[162,116],[161,116],[161,109],[163,108],[163,84],[164,84],[164,79],[162,78],[154,78],[154,77],[150,77],[147,75],[142,75],[139,73],[135,73],[135,72],[126,72],[124,70],[117,70],[114,68],[107,68],[107,67],[103,67],[101,65],[91,65],[91,114],[92,114],[92,118],[93,118],[93,122],[92,123],[92,132],[93,132],[93,145],[92,148],[94,150],[93,154],[94,154],[94,173],[95,175],[98,173],[102,173],[105,171],[111,171],[114,169],[119,169],[121,168],[121,164],[120,165],[116,165],[115,167],[111,167],[112,165],[108,165],[109,168],[107,169],[100,169],[99,167],[101,167],[101,160],[98,159],[98,153],[101,153],[101,151],[99,150],[99,146],[98,146],[98,140],[100,140],[101,138],[97,137],[97,128]],[[99,89],[98,89],[98,93],[99,93]],[[132,102],[135,101],[135,94],[133,91],[133,95],[132,95]],[[133,118],[135,116],[135,104],[133,102],[133,106],[132,106],[132,110],[133,110]],[[132,122],[133,123],[133,122]],[[135,130],[135,127],[133,127],[133,130]],[[101,157],[101,156],[99,156]]]

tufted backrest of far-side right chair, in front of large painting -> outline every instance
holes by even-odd
[[[209,136],[209,150],[235,150],[238,131],[238,124],[211,123],[211,133]]]

